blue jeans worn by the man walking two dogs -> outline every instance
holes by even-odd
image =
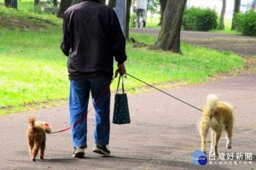
[[[110,80],[107,77],[87,77],[80,80],[70,81],[70,95],[69,95],[69,111],[71,126],[78,122],[88,110],[89,96],[91,91],[92,103],[95,109],[95,144],[108,144],[110,121],[110,89],[106,94],[96,100],[102,94],[105,88],[108,87]],[[90,113],[88,113],[90,114]],[[87,116],[82,122],[79,122],[72,128],[73,147],[84,146],[87,147]]]

